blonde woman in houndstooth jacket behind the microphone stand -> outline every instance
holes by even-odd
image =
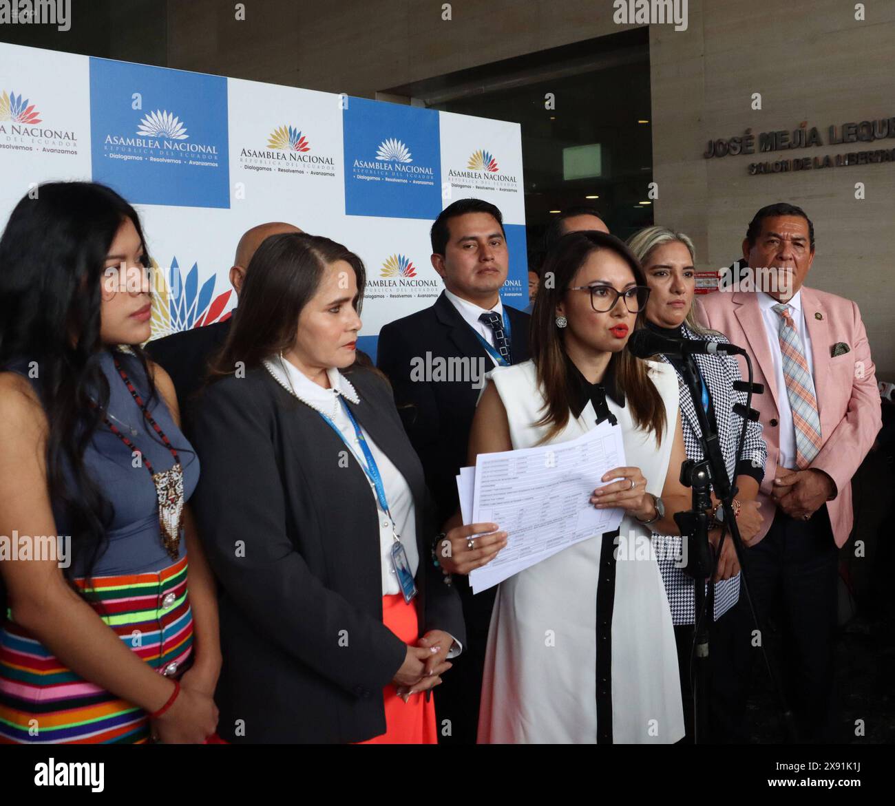
[[[707,331],[695,321],[695,250],[684,233],[661,226],[651,226],[635,233],[628,245],[640,260],[650,288],[646,303],[646,327],[672,338],[700,339],[726,342],[720,333]],[[764,476],[767,447],[762,437],[762,426],[749,422],[740,461],[737,445],[743,428],[742,418],[733,411],[735,403],[745,403],[746,395],[733,391],[734,381],[740,380],[739,365],[732,355],[696,355],[695,362],[703,385],[702,399],[694,401],[680,373],[680,361],[661,356],[678,373],[681,424],[684,445],[689,459],[701,461],[699,444],[702,429],[696,416],[696,405],[702,405],[714,423],[720,437],[729,478],[736,477],[739,488],[734,504],[738,510],[737,524],[742,538],[748,542],[758,532],[762,517],[755,503],[758,487]],[[713,547],[718,546],[720,527],[710,534]],[[690,658],[694,633],[694,581],[686,576],[675,562],[680,556],[678,536],[656,536],[660,547],[660,569],[665,582],[678,642],[681,691],[686,716],[687,739],[693,734],[692,688]],[[710,688],[711,729],[713,741],[743,741],[741,724],[743,698],[737,693],[737,674],[746,671],[748,651],[747,613],[737,606],[739,598],[739,564],[731,539],[725,539],[718,558],[714,578],[714,612],[710,628],[709,658],[712,682]],[[703,616],[707,617],[707,616]]]

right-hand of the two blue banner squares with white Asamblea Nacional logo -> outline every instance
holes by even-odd
[[[434,219],[441,212],[439,114],[349,98],[345,215]]]

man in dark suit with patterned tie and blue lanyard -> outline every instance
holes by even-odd
[[[509,259],[503,216],[494,205],[455,201],[432,225],[431,243],[432,266],[445,290],[430,308],[382,328],[378,363],[391,380],[447,531],[460,522],[456,474],[466,464],[482,374],[528,360],[529,316],[500,301]],[[446,570],[454,567],[450,558],[439,561]],[[473,597],[465,575],[455,575],[454,583],[463,600],[467,643],[435,702],[441,741],[474,743],[496,589]]]

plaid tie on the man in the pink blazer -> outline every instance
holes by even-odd
[[[774,313],[780,315],[780,352],[783,357],[783,378],[792,421],[796,426],[796,464],[799,470],[814,462],[814,457],[823,446],[821,441],[821,419],[817,414],[817,400],[814,384],[805,361],[802,340],[789,313],[789,306],[774,305]]]

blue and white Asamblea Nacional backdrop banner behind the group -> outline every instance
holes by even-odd
[[[286,221],[367,267],[359,347],[443,284],[429,228],[456,199],[504,216],[508,304],[528,304],[518,123],[0,44],[0,223],[41,182],[94,180],[140,212],[165,278],[152,337],[230,315],[240,235]]]

